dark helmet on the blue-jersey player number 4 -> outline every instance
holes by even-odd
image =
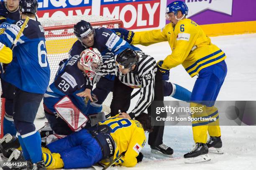
[[[74,25],[74,35],[77,36],[79,41],[82,42],[82,38],[89,35],[90,33],[95,35],[95,30],[92,28],[92,25],[84,20],[81,20],[76,25]]]

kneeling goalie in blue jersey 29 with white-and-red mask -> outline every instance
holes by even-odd
[[[77,94],[87,89],[88,86],[92,86],[85,76],[89,73],[88,70],[90,70],[90,76],[93,76],[92,74],[97,68],[93,66],[94,64],[99,67],[102,65],[102,56],[96,48],[86,49],[84,53],[87,58],[73,55],[60,65],[54,82],[50,84],[44,94],[44,112],[51,129],[56,134],[69,135],[74,132],[64,119],[57,116],[54,108],[54,105],[64,96],[68,95],[75,107],[84,115],[88,115],[90,101],[85,102],[85,98],[77,96]]]

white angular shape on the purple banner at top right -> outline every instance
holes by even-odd
[[[188,17],[192,17],[205,10],[214,10],[232,15],[233,0],[185,0],[189,8]]]

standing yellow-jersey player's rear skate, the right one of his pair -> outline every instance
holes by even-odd
[[[222,141],[219,137],[212,137],[207,140],[207,147],[210,153],[223,154]]]

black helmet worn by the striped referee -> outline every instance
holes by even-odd
[[[138,63],[138,54],[131,48],[127,48],[116,57],[116,65],[122,69],[131,68],[134,64]]]

